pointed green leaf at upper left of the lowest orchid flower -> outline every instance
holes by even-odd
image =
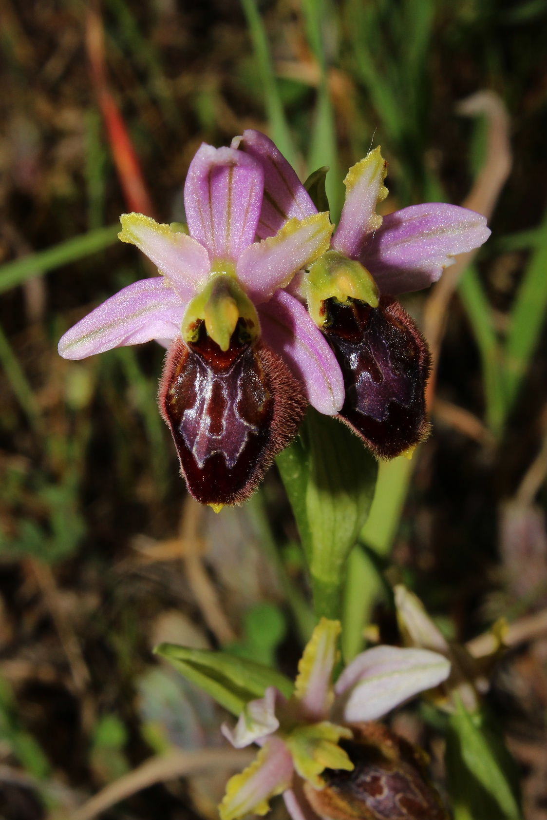
[[[234,715],[241,714],[250,700],[261,698],[268,686],[287,698],[292,695],[292,681],[285,675],[246,658],[174,644],[160,644],[154,651]]]

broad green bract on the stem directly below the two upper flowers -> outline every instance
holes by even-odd
[[[346,558],[367,520],[377,461],[349,428],[310,409],[305,508],[316,614],[340,617]]]

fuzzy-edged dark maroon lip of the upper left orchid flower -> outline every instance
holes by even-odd
[[[264,344],[242,342],[236,329],[224,352],[203,326],[197,343],[177,339],[170,348],[159,399],[188,490],[206,504],[248,498],[306,407],[301,386]]]

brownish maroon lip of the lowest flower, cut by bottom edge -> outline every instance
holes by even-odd
[[[427,777],[426,755],[379,723],[352,724],[343,740],[353,772],[326,769],[323,790],[305,786],[320,818],[329,820],[448,820]]]

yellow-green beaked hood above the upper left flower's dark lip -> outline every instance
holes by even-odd
[[[197,294],[184,314],[181,334],[185,342],[197,342],[201,322],[210,339],[221,350],[228,350],[237,322],[242,319],[250,340],[260,335],[260,322],[254,304],[235,276],[228,271],[214,272],[201,294]]]

